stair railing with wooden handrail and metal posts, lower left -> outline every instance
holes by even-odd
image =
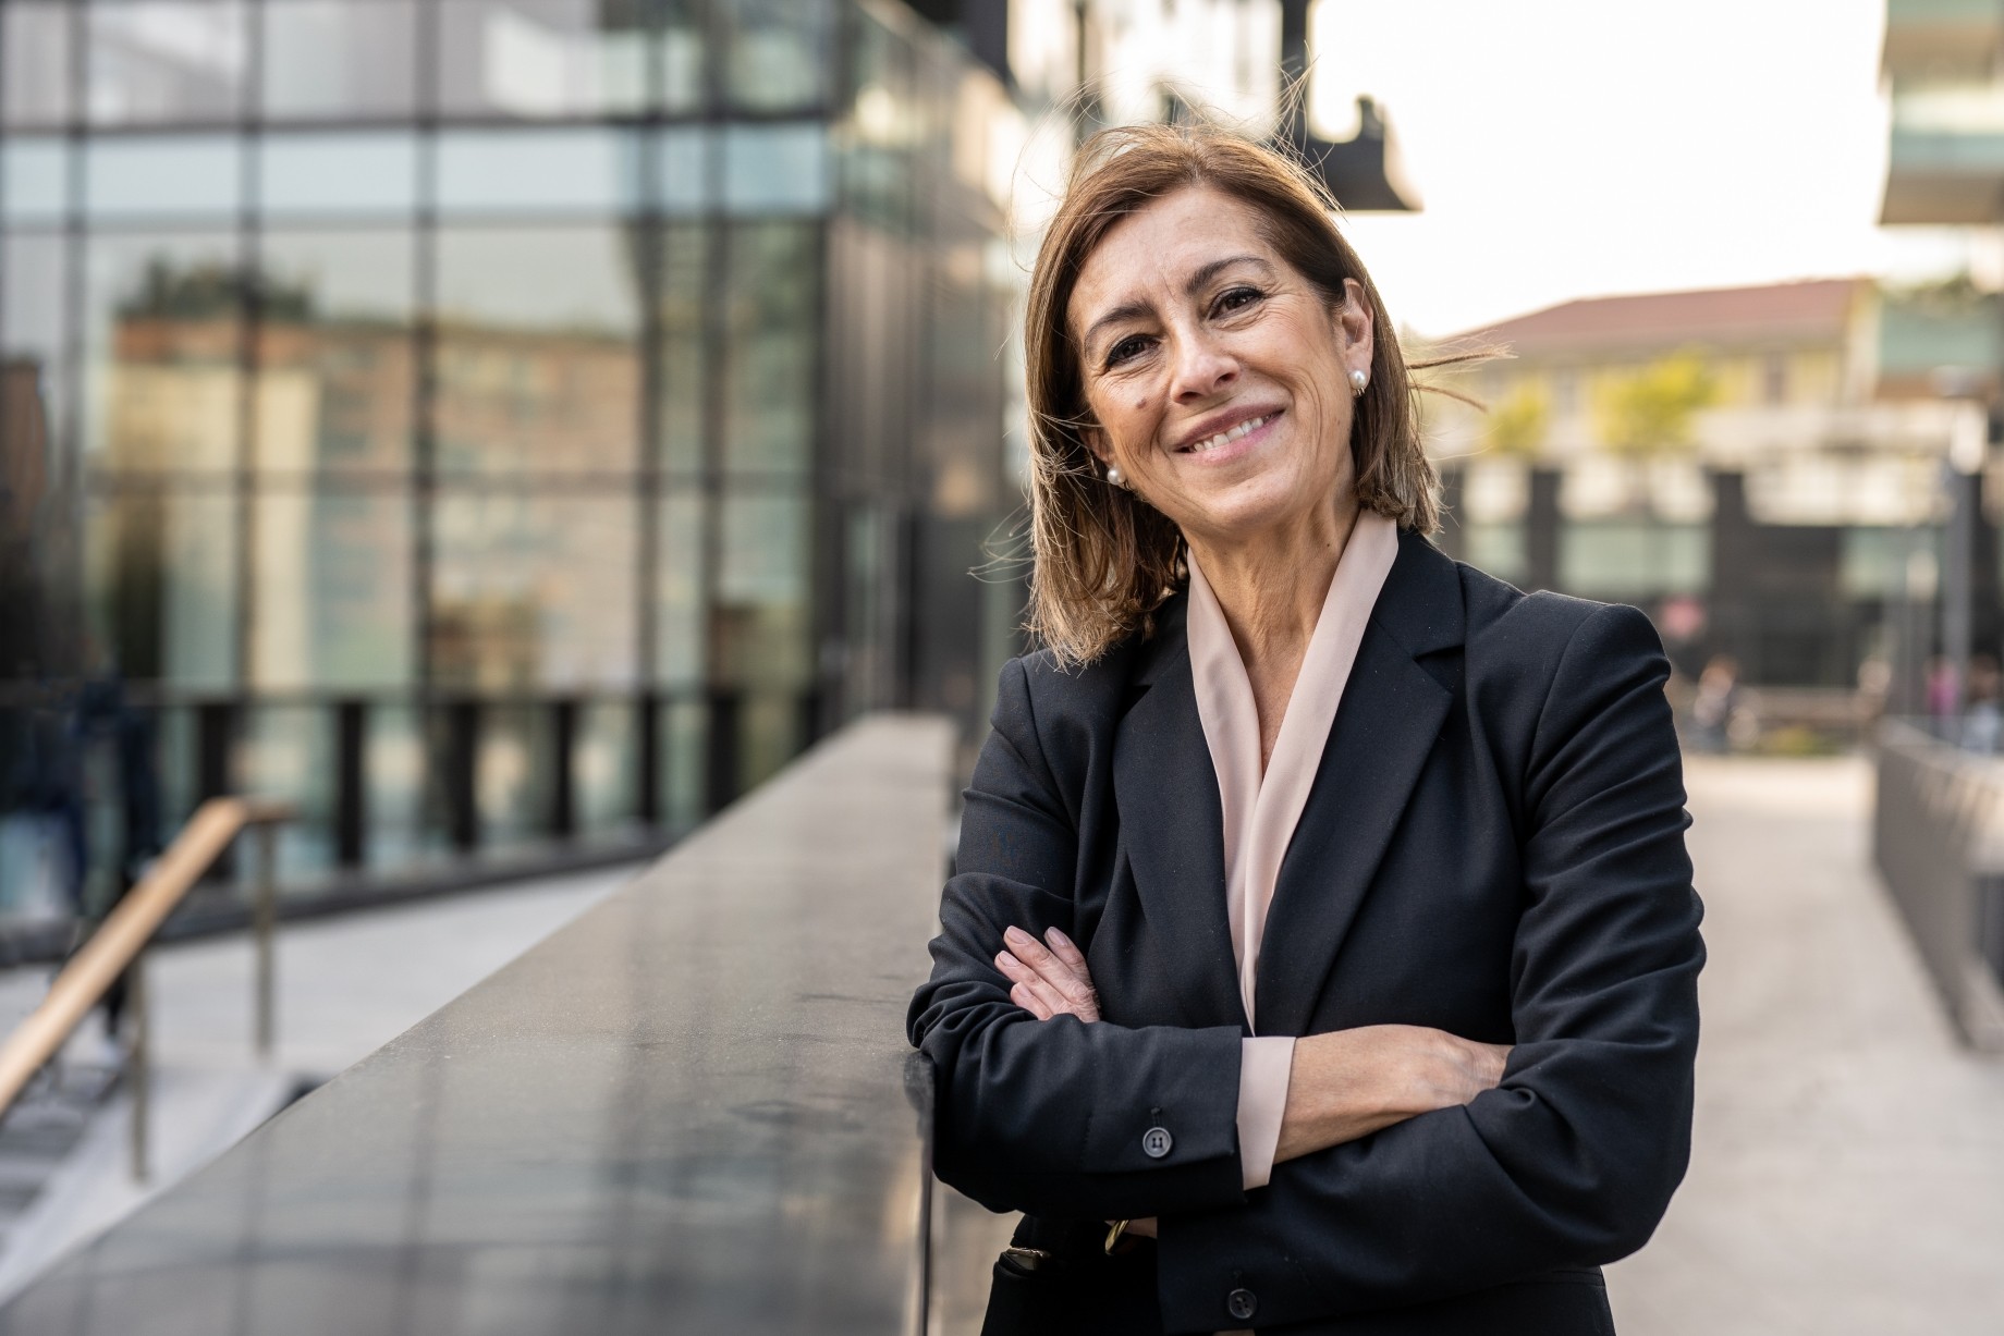
[[[76,1028],[90,1016],[104,993],[126,979],[126,1010],[130,1040],[126,1048],[126,1080],[132,1086],[132,1178],[146,1180],[146,1134],[150,1116],[150,1038],[146,1004],[146,945],[166,915],[186,897],[194,883],[244,829],[257,829],[257,877],[253,881],[253,939],[257,969],[253,975],[253,1006],[257,1012],[255,1042],[261,1058],[271,1056],[273,1020],[273,931],[279,919],[277,849],[273,835],[293,809],[246,797],[212,797],[180,831],[166,853],[112,907],[90,939],[70,957],[42,1004],[24,1020],[6,1044],[0,1044],[0,1118],[14,1106],[34,1074],[62,1052]]]

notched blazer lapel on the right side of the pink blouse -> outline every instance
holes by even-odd
[[[1309,803],[1295,825],[1255,979],[1259,1034],[1299,1036],[1453,705],[1419,665],[1463,641],[1461,577],[1413,533],[1371,609]],[[1198,745],[1202,739],[1198,739]],[[1124,821],[1124,813],[1122,813]]]

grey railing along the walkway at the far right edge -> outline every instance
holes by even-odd
[[[1962,1038],[2004,1052],[2004,761],[1902,719],[1878,733],[1872,855]],[[1986,949],[1992,947],[1992,949]]]

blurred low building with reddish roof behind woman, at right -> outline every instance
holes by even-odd
[[[1940,557],[1944,461],[1982,453],[1996,318],[1966,286],[1832,278],[1479,330],[1515,357],[1461,387],[1487,415],[1435,411],[1449,541],[1527,587],[1649,609],[1687,673],[1725,653],[1745,681],[1850,687]]]

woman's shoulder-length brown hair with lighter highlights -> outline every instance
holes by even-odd
[[[1285,154],[1218,126],[1102,130],[1072,164],[1064,202],[1036,254],[1024,318],[1030,631],[1064,663],[1088,663],[1144,627],[1184,579],[1176,525],[1132,491],[1108,485],[1086,449],[1090,415],[1066,322],[1078,270],[1106,232],[1184,186],[1210,186],[1250,204],[1269,244],[1331,306],[1345,302],[1345,278],[1363,286],[1375,337],[1371,383],[1351,427],[1357,501],[1405,529],[1439,529],[1437,479],[1419,443],[1415,387],[1399,337],[1363,260],[1337,230],[1337,204],[1321,182]]]

